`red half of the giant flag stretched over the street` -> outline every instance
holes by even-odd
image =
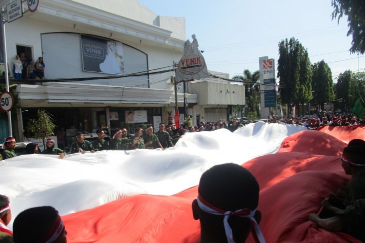
[[[287,137],[277,154],[242,165],[260,186],[260,228],[267,243],[360,243],[343,233],[316,229],[308,217],[318,212],[328,192],[349,180],[338,156],[345,146],[341,141],[362,129],[335,129],[336,138],[303,131]],[[197,243],[199,222],[191,213],[196,196],[197,186],[174,196],[136,195],[63,216],[68,243]]]

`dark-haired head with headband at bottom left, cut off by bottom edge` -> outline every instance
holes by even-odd
[[[66,243],[63,222],[58,212],[50,207],[27,209],[16,216],[13,224],[14,243]]]

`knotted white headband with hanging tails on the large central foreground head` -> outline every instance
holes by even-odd
[[[223,224],[224,224],[225,236],[227,237],[228,243],[234,243],[232,229],[230,229],[230,226],[229,226],[229,223],[228,223],[229,216],[232,213],[238,213],[238,212],[244,211],[246,209],[239,209],[239,210],[236,210],[234,212],[227,211],[224,214],[221,214],[221,213],[219,213],[219,212],[217,212],[217,211],[209,208],[205,204],[203,204],[199,200],[199,198],[197,198],[196,200],[197,200],[197,204],[199,205],[199,208],[202,211],[204,211],[206,213],[209,213],[209,214],[214,214],[214,215],[224,215]],[[251,213],[249,215],[240,215],[240,216],[235,216],[235,217],[247,218],[247,219],[251,220],[253,222],[253,226],[254,226],[254,229],[255,229],[255,232],[256,232],[256,236],[257,236],[258,241],[260,243],[266,243],[265,238],[262,235],[262,232],[261,232],[260,227],[258,226],[256,220],[253,218],[253,216],[255,215],[255,213],[256,213],[256,209],[254,209],[253,211],[251,211]]]

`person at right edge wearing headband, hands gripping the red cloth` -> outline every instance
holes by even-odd
[[[319,228],[328,231],[345,232],[361,241],[365,241],[365,141],[351,140],[343,149],[341,166],[351,180],[344,188],[345,198],[328,194],[321,202],[326,217],[311,214],[309,220]],[[335,206],[334,206],[335,205]]]

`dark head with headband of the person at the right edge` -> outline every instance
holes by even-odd
[[[353,175],[356,171],[365,168],[365,141],[352,139],[341,155],[341,166],[347,175]]]

